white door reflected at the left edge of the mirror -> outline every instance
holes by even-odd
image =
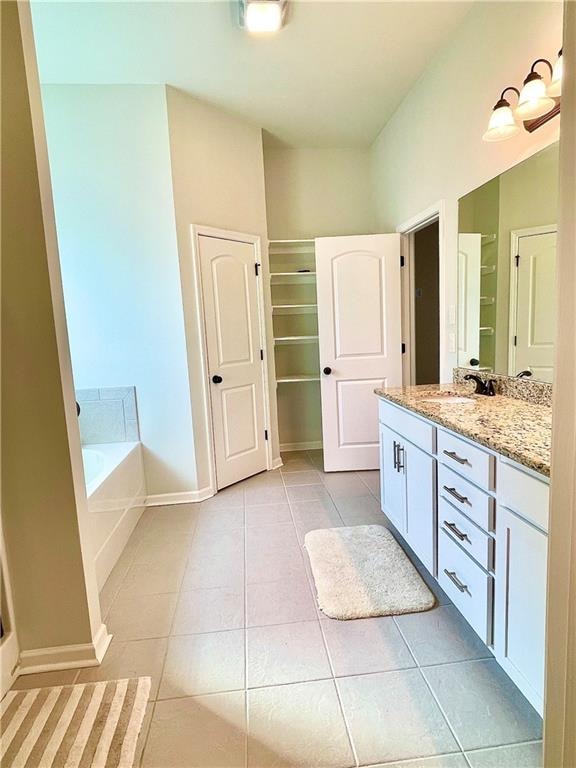
[[[482,235],[458,235],[458,365],[480,359]]]

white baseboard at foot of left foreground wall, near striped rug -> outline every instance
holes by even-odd
[[[112,635],[108,633],[106,625],[101,624],[91,643],[20,651],[18,674],[33,675],[36,672],[97,667],[104,658],[111,641]]]

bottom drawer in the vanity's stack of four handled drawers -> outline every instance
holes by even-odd
[[[480,638],[492,642],[492,577],[443,530],[438,536],[438,582]]]

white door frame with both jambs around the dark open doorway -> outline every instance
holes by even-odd
[[[457,306],[458,306],[458,201],[442,199],[424,209],[398,227],[401,253],[404,256],[402,273],[402,333],[406,344],[402,371],[404,385],[414,383],[414,296],[410,295],[414,282],[414,233],[438,221],[439,305],[440,305],[440,382],[452,381],[453,369],[458,365]]]

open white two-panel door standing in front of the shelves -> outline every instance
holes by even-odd
[[[324,469],[377,469],[374,389],[402,385],[400,235],[316,240]]]

